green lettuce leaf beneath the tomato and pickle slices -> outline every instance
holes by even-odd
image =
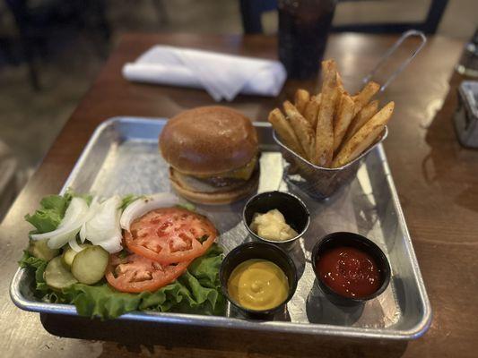
[[[75,284],[62,292],[49,288],[43,277],[48,262],[24,251],[21,267],[34,271],[35,295],[48,303],[71,303],[78,314],[100,319],[114,319],[130,311],[180,311],[222,315],[225,298],[219,282],[222,249],[213,246],[194,260],[187,271],[168,286],[153,293],[126,294],[117,292],[104,280],[94,286]]]

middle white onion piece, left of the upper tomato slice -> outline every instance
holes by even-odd
[[[92,217],[83,226],[82,240],[88,239],[110,253],[121,251],[120,206],[121,198],[117,195],[95,205]]]

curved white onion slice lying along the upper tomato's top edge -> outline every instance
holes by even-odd
[[[129,204],[123,211],[119,224],[123,229],[129,231],[129,227],[136,217],[142,217],[153,209],[172,207],[178,205],[178,203],[179,198],[170,192],[158,192],[157,194],[148,195]]]

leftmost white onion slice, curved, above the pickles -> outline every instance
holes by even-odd
[[[83,226],[87,212],[88,203],[86,200],[83,198],[73,198],[65,211],[65,217],[63,217],[56,230],[44,234],[32,234],[30,237],[33,240],[49,239],[48,247],[50,249],[59,249],[78,234]]]

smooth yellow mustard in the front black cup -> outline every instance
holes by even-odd
[[[282,269],[269,260],[241,262],[230,273],[230,298],[249,310],[270,310],[282,304],[289,294],[289,282]]]

